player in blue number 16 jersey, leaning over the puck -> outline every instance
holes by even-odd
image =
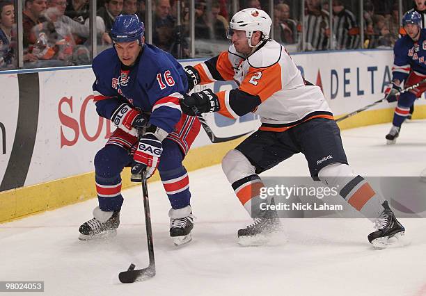
[[[182,160],[200,131],[200,122],[182,115],[179,99],[187,90],[182,66],[171,54],[145,44],[144,31],[136,15],[119,15],[111,29],[113,48],[93,60],[97,113],[117,129],[95,156],[99,206],[93,219],[79,228],[81,240],[116,233],[123,204],[123,167],[132,167],[132,181],[140,181],[142,170],[149,178],[158,167],[171,203],[170,235],[176,245],[191,240],[191,193]],[[145,134],[138,142],[140,128]]]

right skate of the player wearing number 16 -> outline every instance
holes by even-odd
[[[171,208],[168,212],[170,217],[170,236],[175,246],[185,245],[191,242],[191,230],[194,228],[194,216],[191,206],[175,210]],[[184,215],[182,217],[182,215]]]

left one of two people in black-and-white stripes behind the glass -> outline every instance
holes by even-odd
[[[329,15],[322,10],[320,0],[306,0],[303,30],[307,51],[329,49]]]

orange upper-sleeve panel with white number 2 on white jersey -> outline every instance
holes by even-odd
[[[258,95],[260,100],[266,101],[274,92],[282,88],[281,65],[275,63],[266,68],[248,69],[244,81],[239,85],[239,89],[248,94]]]

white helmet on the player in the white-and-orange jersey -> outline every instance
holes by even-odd
[[[238,13],[232,17],[226,37],[232,38],[233,30],[246,31],[248,38],[248,45],[251,45],[251,35],[253,32],[262,32],[262,40],[268,40],[271,33],[272,19],[265,11],[256,8],[246,8],[239,10]]]

